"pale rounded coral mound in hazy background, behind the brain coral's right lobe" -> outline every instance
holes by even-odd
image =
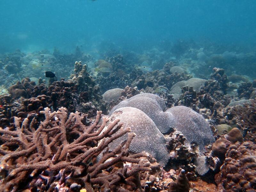
[[[193,86],[193,90],[196,92],[200,91],[200,87],[204,86],[204,83],[207,80],[200,79],[200,78],[190,78],[187,81],[179,81],[176,84],[174,84],[170,90],[170,92],[173,94],[175,99],[179,98],[179,95],[181,94],[181,88],[184,86]]]

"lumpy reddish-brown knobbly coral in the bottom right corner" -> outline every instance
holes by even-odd
[[[215,175],[219,189],[231,191],[255,191],[256,147],[251,141],[230,145],[220,172]]]

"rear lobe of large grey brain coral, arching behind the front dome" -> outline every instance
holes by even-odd
[[[137,95],[136,95],[137,96]],[[174,124],[175,119],[172,117],[171,113],[163,112],[162,108],[156,102],[156,100],[149,97],[131,97],[130,99],[123,100],[109,112],[109,116],[118,108],[122,107],[134,107],[143,111],[150,119],[156,124],[156,127],[162,133],[167,133],[170,131]]]

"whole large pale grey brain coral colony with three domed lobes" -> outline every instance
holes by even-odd
[[[188,148],[192,143],[197,146],[196,152],[200,160],[196,161],[203,162],[198,164],[198,173],[206,173],[208,169],[205,167],[203,152],[205,152],[206,145],[215,141],[209,124],[203,116],[188,107],[176,106],[164,112],[165,109],[162,98],[154,94],[141,93],[123,100],[112,108],[108,115],[111,119],[119,118],[125,127],[131,127],[132,132],[136,133],[136,139],[131,144],[131,151],[144,150],[154,156],[163,166],[169,159],[163,134],[169,132],[182,134],[186,138],[185,145]],[[116,140],[111,147],[116,147],[124,140],[123,137]]]

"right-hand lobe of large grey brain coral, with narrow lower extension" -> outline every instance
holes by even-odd
[[[165,113],[171,113],[175,119],[171,126],[174,133],[181,133],[186,140],[185,145],[190,148],[190,144],[195,143],[198,157],[195,159],[196,172],[204,175],[209,170],[209,166],[205,162],[205,146],[212,144],[215,140],[209,124],[204,120],[203,116],[185,106],[176,106],[169,108]]]

